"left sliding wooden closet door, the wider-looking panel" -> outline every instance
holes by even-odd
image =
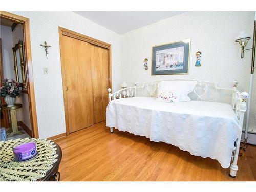
[[[66,105],[71,133],[93,124],[91,45],[82,40],[62,36],[62,46],[62,61],[65,63]]]

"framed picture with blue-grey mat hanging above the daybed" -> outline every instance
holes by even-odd
[[[152,48],[152,75],[188,74],[190,39]]]

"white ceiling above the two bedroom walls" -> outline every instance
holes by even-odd
[[[182,14],[185,11],[74,11],[119,34]]]

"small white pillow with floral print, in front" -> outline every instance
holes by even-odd
[[[164,91],[157,95],[156,101],[177,103],[180,100],[181,94],[182,92],[180,91],[176,91],[176,92]]]

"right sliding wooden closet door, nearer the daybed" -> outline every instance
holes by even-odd
[[[108,105],[108,49],[91,45],[93,123],[106,120]]]

